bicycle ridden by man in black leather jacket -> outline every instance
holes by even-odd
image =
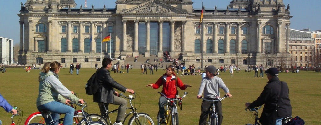
[[[129,99],[130,107],[127,107],[126,109],[131,110],[129,113],[126,113],[126,117],[125,117],[125,120],[123,121],[123,123],[126,121],[126,119],[128,118],[129,115],[133,114],[132,117],[128,121],[128,125],[154,125],[152,118],[147,113],[137,113],[136,112],[137,109],[134,108],[133,103],[132,103],[132,101],[136,98],[136,95],[137,95],[137,93],[134,93],[134,97],[133,97],[133,95],[129,95],[128,97],[126,97],[122,93],[119,94],[119,97],[124,97],[124,98]],[[118,109],[108,111],[108,106],[106,107],[106,105],[104,105],[104,108],[105,108],[105,113],[102,115],[102,117],[109,121],[109,123],[107,122],[106,125],[109,125],[109,124],[112,125],[109,114],[110,113],[117,113]]]

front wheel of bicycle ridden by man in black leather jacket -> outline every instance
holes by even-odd
[[[128,125],[154,125],[152,118],[146,113],[137,113],[137,118],[133,115],[129,121]]]

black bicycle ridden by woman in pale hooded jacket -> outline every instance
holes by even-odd
[[[81,111],[82,111],[82,114],[84,114],[83,109],[85,107],[87,107],[87,105],[85,105],[85,104],[76,104],[76,105],[82,106]],[[58,119],[58,120],[54,121],[53,118],[51,117],[51,112],[48,111],[48,110],[42,110],[40,112],[43,113],[46,118],[51,120],[48,125],[54,125],[56,122],[58,122],[60,124],[60,122],[64,121],[64,118],[61,118],[61,119]],[[88,120],[86,115],[82,115],[82,117],[83,117],[83,119],[79,123],[76,123],[77,125],[105,125],[103,122],[100,122],[100,121],[90,121],[90,120]],[[45,125],[45,124],[43,124],[43,123],[31,123],[29,125]],[[62,124],[60,124],[60,125],[62,125]]]

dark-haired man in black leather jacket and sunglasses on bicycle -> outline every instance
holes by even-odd
[[[111,78],[109,72],[113,66],[111,61],[112,60],[109,58],[102,60],[102,66],[97,72],[97,83],[102,86],[93,95],[93,100],[94,102],[98,102],[101,114],[105,113],[105,106],[107,107],[108,104],[119,105],[116,122],[113,125],[123,125],[121,121],[125,120],[127,100],[118,97],[118,92],[115,89],[122,92],[127,91],[131,94],[134,94],[134,90],[127,89],[125,86],[119,84],[113,78]]]

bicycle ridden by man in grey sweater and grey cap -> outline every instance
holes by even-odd
[[[204,122],[204,124],[208,124],[208,125],[218,125],[218,117],[217,117],[217,111],[215,110],[215,103],[214,102],[217,102],[217,101],[221,101],[223,100],[224,98],[228,97],[227,95],[224,95],[223,98],[221,97],[217,97],[217,99],[214,99],[214,100],[208,100],[208,99],[205,99],[205,98],[202,98],[200,97],[200,99],[202,98],[203,100],[205,101],[211,101],[213,102],[212,106],[211,106],[211,111],[209,113],[209,117],[208,117],[208,122]]]

